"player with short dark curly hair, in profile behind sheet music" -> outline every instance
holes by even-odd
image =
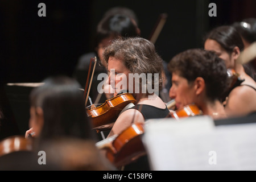
[[[172,72],[169,96],[177,109],[196,104],[214,119],[226,117],[220,102],[228,78],[223,60],[213,52],[188,49],[173,57],[168,68]]]

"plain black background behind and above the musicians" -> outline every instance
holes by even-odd
[[[38,16],[40,2],[46,4],[46,17]],[[211,2],[217,5],[217,17],[208,15]],[[114,6],[135,11],[146,39],[159,14],[168,14],[155,43],[166,61],[185,49],[203,47],[203,35],[213,27],[256,17],[254,0],[0,0],[0,106],[5,118],[0,137],[20,133],[14,129],[17,118],[6,99],[5,85],[41,82],[52,75],[72,76],[79,56],[93,51],[97,23]]]

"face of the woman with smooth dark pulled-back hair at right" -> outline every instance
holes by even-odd
[[[234,68],[234,58],[216,40],[207,39],[204,43],[204,49],[215,52],[218,57],[225,61],[226,68]]]

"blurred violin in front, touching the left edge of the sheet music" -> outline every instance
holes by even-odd
[[[115,167],[125,166],[146,154],[141,140],[143,134],[143,124],[133,124],[121,134],[97,142],[96,146],[99,149],[107,149],[106,158]]]

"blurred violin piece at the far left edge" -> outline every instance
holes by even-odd
[[[0,142],[0,156],[16,151],[32,151],[32,140],[14,135]]]

